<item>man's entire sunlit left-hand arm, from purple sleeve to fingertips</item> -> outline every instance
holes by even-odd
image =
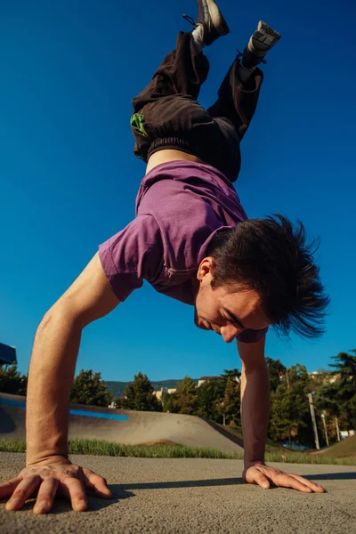
[[[37,329],[28,374],[27,468],[0,485],[0,498],[12,495],[8,510],[19,509],[38,488],[35,512],[39,514],[50,510],[60,486],[78,511],[86,508],[84,486],[109,497],[100,476],[71,465],[67,436],[69,392],[82,330],[117,304],[96,254]]]

